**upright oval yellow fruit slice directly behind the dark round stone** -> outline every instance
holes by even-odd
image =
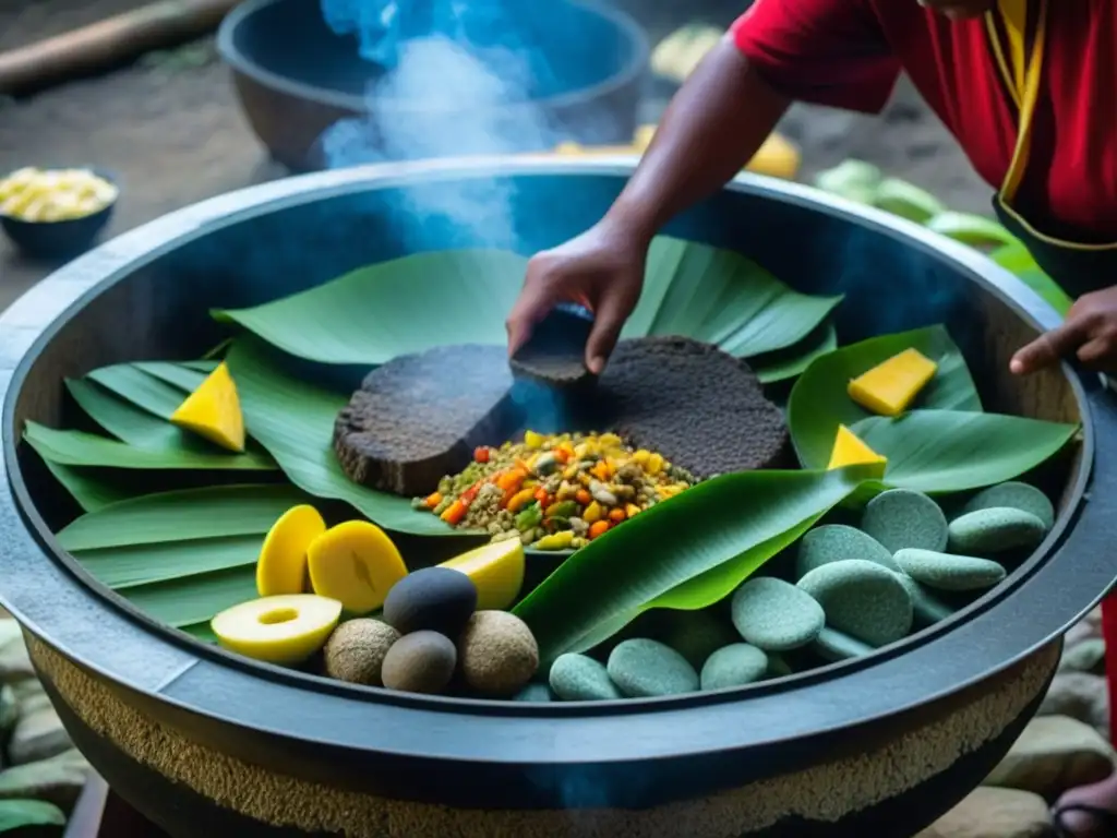
[[[346,521],[326,530],[311,542],[306,560],[314,592],[341,601],[355,615],[384,604],[392,585],[408,573],[392,540],[367,521]]]

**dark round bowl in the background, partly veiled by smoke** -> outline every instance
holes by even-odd
[[[431,68],[429,78],[412,67],[405,98],[370,94],[383,69],[361,58],[356,38],[326,25],[321,0],[247,0],[221,23],[218,49],[252,131],[273,158],[296,171],[372,158],[545,151],[563,140],[630,142],[648,64],[643,30],[594,0],[502,8],[513,15],[507,26],[522,40],[514,59],[487,66],[474,84],[439,77],[454,75],[458,65]],[[527,53],[537,72],[521,67]],[[490,75],[507,89],[488,91]],[[447,85],[471,89],[461,92],[457,107],[445,97],[430,101]],[[324,132],[354,120],[360,141],[326,152]]]

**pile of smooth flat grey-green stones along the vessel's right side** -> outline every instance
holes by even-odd
[[[1023,483],[985,489],[949,516],[919,492],[884,492],[859,520],[808,532],[771,574],[734,592],[727,613],[716,607],[661,615],[658,627],[633,623],[611,648],[560,656],[547,683],[518,697],[680,695],[869,655],[996,585],[1053,522],[1051,502]]]

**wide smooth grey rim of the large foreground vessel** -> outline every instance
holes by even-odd
[[[1002,672],[1060,636],[1100,600],[1115,575],[1104,556],[1108,546],[1105,524],[1117,515],[1117,407],[1098,377],[1066,365],[1063,373],[1081,408],[1083,429],[1082,466],[1072,496],[1082,498],[1092,477],[1089,502],[1069,504],[1044,543],[1006,582],[948,620],[867,658],[744,689],[588,705],[531,705],[420,697],[342,684],[250,661],[166,629],[93,582],[58,547],[23,482],[16,453],[18,435],[8,429],[13,428],[17,396],[42,347],[108,287],[157,256],[216,229],[332,197],[413,185],[424,179],[493,174],[624,178],[633,166],[631,158],[538,155],[317,172],[170,213],[42,280],[0,315],[8,476],[0,485],[0,602],[29,631],[75,663],[144,702],[170,705],[169,710],[341,751],[546,765],[772,747],[881,721]],[[904,239],[910,247],[953,263],[1029,324],[1049,327],[1058,321],[1011,274],[976,251],[910,222],[757,175],[743,174],[726,189],[809,208]],[[1075,565],[1075,572],[1067,572],[1068,564]],[[935,685],[930,692],[928,683]],[[742,725],[743,713],[754,723]]]

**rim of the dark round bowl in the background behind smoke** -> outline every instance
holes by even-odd
[[[237,46],[237,32],[241,26],[250,21],[252,16],[257,15],[261,9],[284,2],[292,2],[292,0],[246,0],[246,2],[240,3],[230,11],[221,21],[217,35],[217,48],[221,58],[236,73],[244,74],[257,84],[279,93],[350,111],[354,114],[369,112],[370,105],[373,103],[378,113],[433,113],[445,109],[442,106],[428,105],[422,102],[403,102],[401,99],[385,99],[380,97],[370,99],[367,96],[342,93],[341,91],[302,82],[296,77],[273,73],[267,69]],[[598,0],[562,0],[562,2],[576,6],[588,13],[596,15],[617,27],[618,31],[623,34],[626,40],[631,46],[633,50],[632,56],[620,72],[596,84],[551,96],[512,102],[507,105],[502,105],[500,111],[536,111],[541,107],[562,108],[575,105],[588,98],[603,96],[612,91],[620,89],[626,85],[632,84],[634,79],[645,74],[648,58],[651,55],[651,47],[648,44],[648,38],[643,29],[632,18],[619,9],[611,8]]]

